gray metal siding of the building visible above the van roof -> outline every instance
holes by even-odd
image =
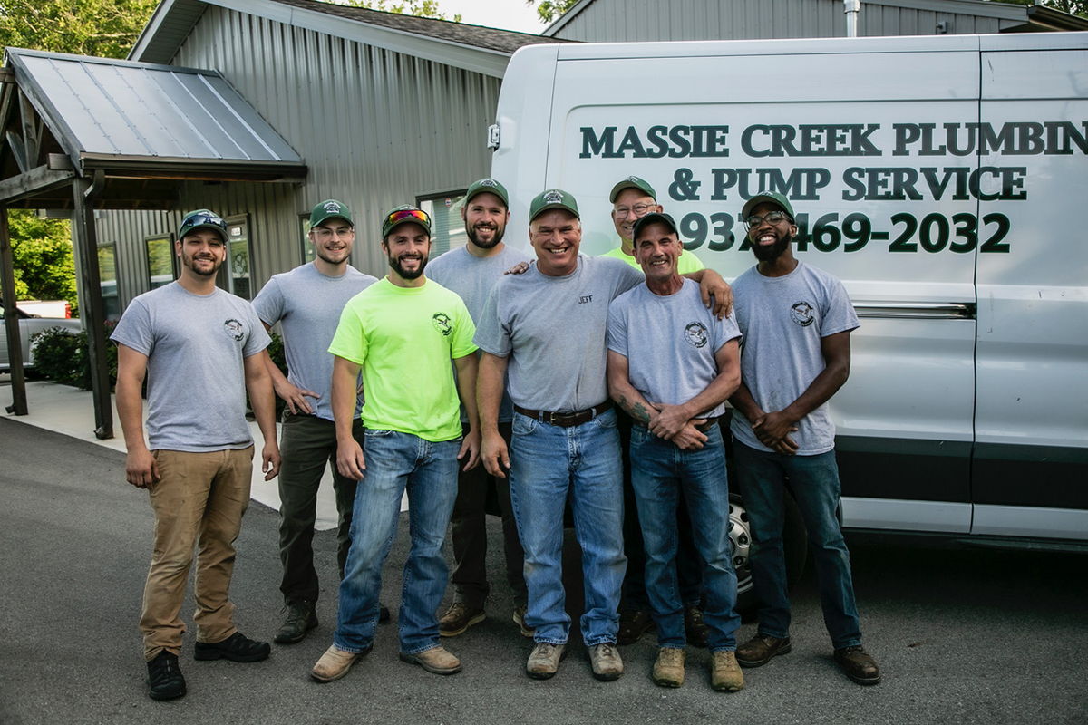
[[[858,35],[998,33],[1001,21],[862,2]],[[1006,24],[1015,24],[1006,21]],[[582,42],[833,38],[846,33],[842,0],[596,0],[555,34]]]

